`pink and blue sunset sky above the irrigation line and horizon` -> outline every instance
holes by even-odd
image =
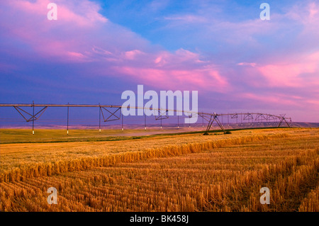
[[[308,0],[4,0],[0,103],[121,105],[142,84],[198,91],[208,113],[319,123],[318,28]]]

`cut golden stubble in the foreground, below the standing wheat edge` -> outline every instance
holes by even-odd
[[[256,139],[0,183],[4,211],[315,211],[319,139]],[[225,144],[223,144],[225,145]],[[47,204],[47,188],[58,191]],[[259,202],[270,190],[270,205]]]

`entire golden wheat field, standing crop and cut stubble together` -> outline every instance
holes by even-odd
[[[1,211],[319,210],[319,129],[0,147]]]

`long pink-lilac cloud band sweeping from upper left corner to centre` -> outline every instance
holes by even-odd
[[[216,67],[201,60],[198,53],[182,48],[175,52],[150,48],[135,33],[101,16],[99,5],[92,1],[55,1],[57,21],[47,20],[49,3],[13,0],[4,4],[11,12],[9,17],[12,12],[18,15],[16,20],[11,18],[15,24],[8,27],[11,36],[27,43],[40,57],[53,57],[57,62],[99,62],[99,68],[94,68],[98,74],[121,73],[125,78],[162,88],[213,88],[223,92],[229,86]]]

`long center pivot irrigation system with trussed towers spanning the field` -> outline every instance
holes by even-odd
[[[84,108],[99,108],[99,132],[101,132],[101,115],[103,118],[103,122],[109,122],[113,120],[120,120],[122,118],[122,130],[123,130],[123,114],[122,114],[122,106],[116,106],[116,105],[101,105],[101,104],[35,104],[33,103],[0,103],[0,107],[13,107],[20,113],[20,115],[26,120],[26,122],[32,121],[32,132],[34,134],[34,121],[38,120],[41,115],[45,112],[45,110],[48,107],[64,107],[67,108],[67,134],[69,134],[69,108],[74,107],[84,107]],[[28,113],[28,111],[23,110],[23,107],[31,107],[33,108],[33,113]],[[35,107],[42,108],[40,111],[35,112]],[[279,124],[278,127],[280,127],[283,123],[286,123],[288,127],[291,127],[289,123],[291,123],[291,118],[286,118],[286,114],[283,115],[270,115],[265,113],[227,113],[227,114],[218,114],[218,113],[198,113],[194,111],[178,111],[178,110],[169,110],[169,109],[162,109],[162,108],[144,108],[144,107],[138,107],[138,106],[130,106],[128,108],[135,108],[135,109],[148,109],[151,111],[158,112],[155,115],[155,120],[161,120],[161,128],[162,128],[162,120],[169,118],[169,115],[167,113],[169,112],[179,112],[184,113],[185,115],[188,115],[189,118],[192,118],[194,116],[199,116],[203,120],[206,120],[208,122],[206,131],[204,132],[204,135],[208,135],[208,131],[211,129],[211,126],[213,125],[213,122],[216,122],[218,126],[220,127],[220,130],[223,130],[225,133],[225,128],[223,127],[223,121],[220,123],[219,118],[222,118],[223,116],[227,116],[228,118],[228,124],[229,124],[229,118],[235,119],[238,125],[238,118],[240,117],[241,123],[242,120],[256,120],[256,121],[262,121],[262,120],[278,120]],[[106,114],[106,115],[104,115]],[[146,115],[145,116],[145,130],[146,130]]]

